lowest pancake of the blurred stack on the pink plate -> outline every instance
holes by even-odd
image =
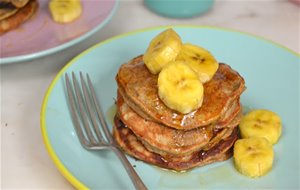
[[[37,0],[30,0],[24,7],[18,9],[16,13],[0,20],[0,35],[17,28],[27,21],[36,12],[38,8]]]

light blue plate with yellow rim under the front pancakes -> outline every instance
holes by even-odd
[[[77,188],[133,189],[122,165],[110,151],[87,151],[75,134],[67,106],[64,73],[88,72],[112,128],[115,75],[121,64],[145,52],[166,27],[121,35],[84,51],[68,63],[50,85],[41,112],[44,142],[55,165]],[[174,26],[184,42],[205,47],[218,61],[237,70],[246,81],[241,97],[246,107],[280,115],[283,133],[274,145],[273,169],[251,179],[239,174],[232,159],[175,173],[130,158],[149,189],[299,189],[299,55],[270,41],[231,30]]]

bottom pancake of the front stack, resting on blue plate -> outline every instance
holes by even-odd
[[[127,154],[144,162],[176,171],[188,170],[196,166],[204,166],[213,162],[224,161],[232,156],[232,145],[237,140],[237,127],[230,136],[222,139],[207,151],[200,150],[183,157],[163,157],[150,152],[138,140],[134,133],[115,117],[113,134],[116,142]]]

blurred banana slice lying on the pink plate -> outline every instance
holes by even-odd
[[[53,20],[59,23],[72,22],[82,13],[80,0],[51,0],[49,9]]]

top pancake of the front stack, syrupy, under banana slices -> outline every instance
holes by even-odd
[[[212,80],[204,84],[202,106],[189,114],[181,114],[159,99],[157,77],[148,71],[141,55],[121,65],[116,81],[126,103],[140,116],[183,130],[216,122],[245,89],[244,79],[230,66],[220,64]]]

